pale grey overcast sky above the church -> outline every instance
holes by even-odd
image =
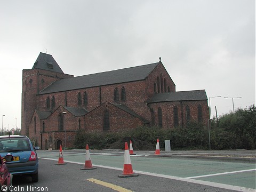
[[[255,0],[0,0],[0,115],[21,127],[22,69],[47,49],[81,76],[159,61],[212,115],[255,104]],[[2,119],[1,119],[2,122]]]

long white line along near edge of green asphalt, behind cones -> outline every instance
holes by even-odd
[[[43,157],[42,159],[58,161],[58,159],[53,159],[53,158],[44,158]],[[75,163],[75,164],[81,164],[81,165],[84,164],[84,163],[73,162],[73,161],[65,161],[65,163]],[[123,171],[123,169],[118,168],[118,167],[110,167],[110,166],[95,165],[95,164],[93,164],[93,166],[102,167],[102,168],[106,168],[106,169],[113,169],[113,170]],[[211,182],[211,181],[202,181],[202,180],[196,180],[196,179],[190,179],[190,178],[181,178],[181,177],[176,177],[176,176],[171,176],[171,175],[164,175],[164,174],[150,173],[150,172],[136,171],[136,170],[133,170],[133,172],[134,173],[139,173],[139,174],[151,175],[151,176],[154,176],[154,177],[161,177],[161,178],[166,178],[166,179],[174,179],[174,180],[178,180],[178,181],[185,181],[185,182],[191,182],[191,183],[196,183],[196,184],[200,184],[200,185],[206,185],[206,186],[211,186],[211,187],[218,187],[218,188],[222,188],[222,189],[244,191],[244,192],[255,191],[255,189],[251,189],[251,188],[240,187],[240,186],[232,186],[232,185],[227,185],[227,184],[223,184],[223,183],[216,183],[216,182]]]

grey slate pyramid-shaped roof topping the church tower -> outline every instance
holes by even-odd
[[[46,53],[40,53],[32,69],[44,69],[57,73],[63,73],[58,63],[54,60],[52,55]]]

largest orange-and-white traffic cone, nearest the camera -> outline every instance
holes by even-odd
[[[124,147],[124,170],[122,175],[118,175],[118,177],[121,178],[126,178],[126,177],[137,177],[139,174],[135,174],[132,170],[132,163],[131,163],[131,158],[129,154],[129,149],[128,149],[128,143],[125,142],[125,147]]]

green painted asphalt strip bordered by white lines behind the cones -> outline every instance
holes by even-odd
[[[49,151],[38,151],[37,154],[39,158],[58,159],[59,157],[59,153],[51,153]],[[116,156],[99,154],[96,155],[92,153],[90,154],[92,164],[94,165],[103,165],[123,169],[123,155]],[[64,161],[85,163],[85,154],[63,153],[63,157]],[[207,177],[194,179],[256,189],[254,163],[222,162],[209,159],[183,159],[138,156],[131,156],[131,162],[133,170],[136,171],[171,175],[181,178],[254,169],[254,171],[210,175]]]

